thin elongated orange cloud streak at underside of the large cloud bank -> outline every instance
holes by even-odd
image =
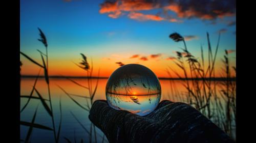
[[[161,21],[164,20],[164,18],[157,16],[157,15],[152,15],[152,14],[142,14],[142,13],[137,13],[137,12],[131,12],[128,17],[131,19],[137,19],[140,21],[145,21],[145,20],[155,20],[155,21]]]

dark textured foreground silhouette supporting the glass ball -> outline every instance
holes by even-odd
[[[110,142],[234,142],[201,112],[181,102],[164,100],[141,117],[97,100],[89,119]]]

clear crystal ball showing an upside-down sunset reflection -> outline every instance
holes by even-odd
[[[161,85],[154,72],[147,67],[128,64],[111,74],[105,93],[110,107],[145,116],[157,107]]]

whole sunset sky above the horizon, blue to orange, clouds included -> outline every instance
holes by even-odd
[[[221,40],[217,55],[217,76],[223,67],[224,50],[236,65],[236,1],[84,1],[84,0],[21,0],[20,51],[41,63],[37,49],[45,51],[39,42],[37,27],[48,41],[50,75],[84,76],[74,63],[80,53],[93,60],[95,74],[110,76],[124,64],[137,63],[150,68],[158,77],[168,77],[165,69],[173,67],[175,51],[184,48],[169,35],[177,32],[185,37],[188,50],[201,57],[203,46],[207,59],[207,37],[215,51],[218,33]],[[39,67],[24,56],[23,75],[36,75]],[[199,60],[200,61],[200,60]],[[175,77],[175,75],[174,75]]]

